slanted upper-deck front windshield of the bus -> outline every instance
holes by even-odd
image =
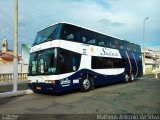
[[[57,38],[59,25],[53,25],[49,28],[41,30],[37,33],[33,45],[37,45],[49,40],[55,40]]]

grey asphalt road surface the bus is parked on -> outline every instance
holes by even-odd
[[[160,80],[144,76],[131,83],[62,95],[29,94],[1,98],[0,114],[160,114]],[[59,118],[59,116],[58,116]]]

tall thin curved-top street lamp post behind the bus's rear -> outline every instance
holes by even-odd
[[[146,23],[146,20],[149,19],[149,17],[146,17],[144,20],[143,20],[143,73],[145,74],[145,40],[146,40],[146,36],[145,36],[145,23]]]

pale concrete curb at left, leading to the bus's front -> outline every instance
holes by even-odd
[[[16,97],[16,96],[22,96],[22,95],[27,95],[27,94],[32,94],[33,91],[28,89],[28,90],[21,90],[21,91],[11,91],[11,92],[4,92],[0,93],[0,98],[6,98],[6,97]]]

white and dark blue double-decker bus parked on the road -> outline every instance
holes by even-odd
[[[139,45],[69,23],[39,31],[30,50],[28,85],[34,92],[87,92],[142,74]]]

